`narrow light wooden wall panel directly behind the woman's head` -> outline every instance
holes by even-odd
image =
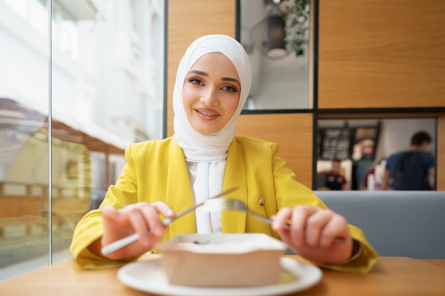
[[[168,1],[167,26],[167,136],[173,134],[173,85],[176,70],[188,45],[208,34],[235,38],[235,0]]]

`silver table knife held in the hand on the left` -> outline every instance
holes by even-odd
[[[204,204],[213,204],[213,202],[215,200],[218,200],[217,197],[220,198],[223,195],[228,194],[228,193],[230,193],[232,191],[235,191],[237,189],[238,189],[237,187],[232,187],[230,189],[227,189],[227,190],[221,192],[220,194],[216,194],[214,197],[210,197],[209,199],[205,199],[205,201],[200,202],[199,204],[195,204],[192,207],[189,207],[188,209],[185,209],[183,212],[177,214],[173,218],[163,219],[162,224],[164,226],[167,226],[168,224],[171,224],[171,222],[175,221],[176,219],[180,218],[181,216],[184,216],[185,214],[188,214],[188,213],[194,211],[195,209],[198,209],[198,207],[201,207]],[[151,232],[150,229],[149,229],[149,232]],[[124,246],[128,246],[130,243],[134,243],[138,239],[139,239],[139,234],[135,233],[135,234],[131,234],[129,236],[126,236],[123,239],[119,239],[117,241],[114,241],[113,243],[110,243],[109,245],[104,246],[101,249],[102,255],[107,256],[108,254],[111,254],[111,253],[119,250],[120,248],[124,248]]]

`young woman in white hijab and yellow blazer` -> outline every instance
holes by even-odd
[[[372,268],[377,253],[362,231],[295,180],[277,144],[235,136],[250,84],[249,59],[233,38],[205,35],[190,45],[173,90],[174,135],[127,148],[122,175],[100,209],[75,229],[70,250],[77,261],[85,266],[131,261],[183,233],[257,232],[282,239],[318,265],[352,272]],[[245,212],[199,209],[161,224],[160,216],[173,217],[231,187],[239,189],[229,197],[271,217],[272,226]],[[102,256],[102,246],[135,232],[139,241]]]

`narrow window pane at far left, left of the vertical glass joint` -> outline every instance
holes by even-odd
[[[49,261],[48,13],[31,5],[0,1],[0,280]]]

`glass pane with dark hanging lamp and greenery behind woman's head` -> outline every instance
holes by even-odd
[[[237,0],[237,7],[240,43],[252,63],[245,109],[312,108],[309,0]]]

